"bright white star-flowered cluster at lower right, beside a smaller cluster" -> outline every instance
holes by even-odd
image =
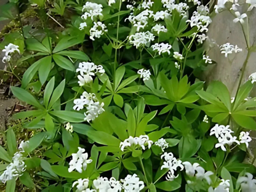
[[[210,135],[215,135],[215,137],[218,138],[218,143],[215,145],[215,148],[220,147],[223,151],[226,151],[226,145],[231,146],[233,143],[240,145],[240,142],[236,140],[236,137],[231,135],[233,131],[229,129],[229,127],[230,126],[219,126],[218,124],[215,124],[215,126],[210,129]],[[247,135],[242,134],[241,138],[243,139],[243,143],[248,141]]]

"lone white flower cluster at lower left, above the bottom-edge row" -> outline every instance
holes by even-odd
[[[70,161],[70,167],[68,172],[77,170],[79,173],[82,173],[82,170],[86,170],[87,164],[92,162],[92,159],[88,159],[88,153],[84,153],[86,150],[78,147],[78,153],[72,153],[72,159]]]

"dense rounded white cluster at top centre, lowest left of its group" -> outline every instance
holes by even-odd
[[[149,47],[151,41],[154,41],[154,35],[150,31],[135,33],[129,36],[130,44],[134,44],[137,49],[142,46]]]

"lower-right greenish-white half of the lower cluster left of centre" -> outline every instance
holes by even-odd
[[[102,114],[105,110],[103,109],[104,103],[100,102],[94,102],[91,103],[86,107],[87,111],[84,113],[84,118],[85,121],[90,122],[94,121],[100,114]]]

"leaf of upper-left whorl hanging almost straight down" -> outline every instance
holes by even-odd
[[[46,79],[49,76],[51,68],[52,68],[52,56],[44,57],[44,61],[43,63],[40,63],[40,66],[38,69],[39,80],[42,85],[44,84],[44,82],[46,82]]]

